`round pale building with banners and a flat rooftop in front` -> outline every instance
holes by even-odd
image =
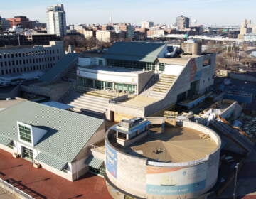
[[[113,197],[114,188],[133,198],[200,198],[218,178],[220,138],[195,122],[122,120],[108,129],[105,146]]]

